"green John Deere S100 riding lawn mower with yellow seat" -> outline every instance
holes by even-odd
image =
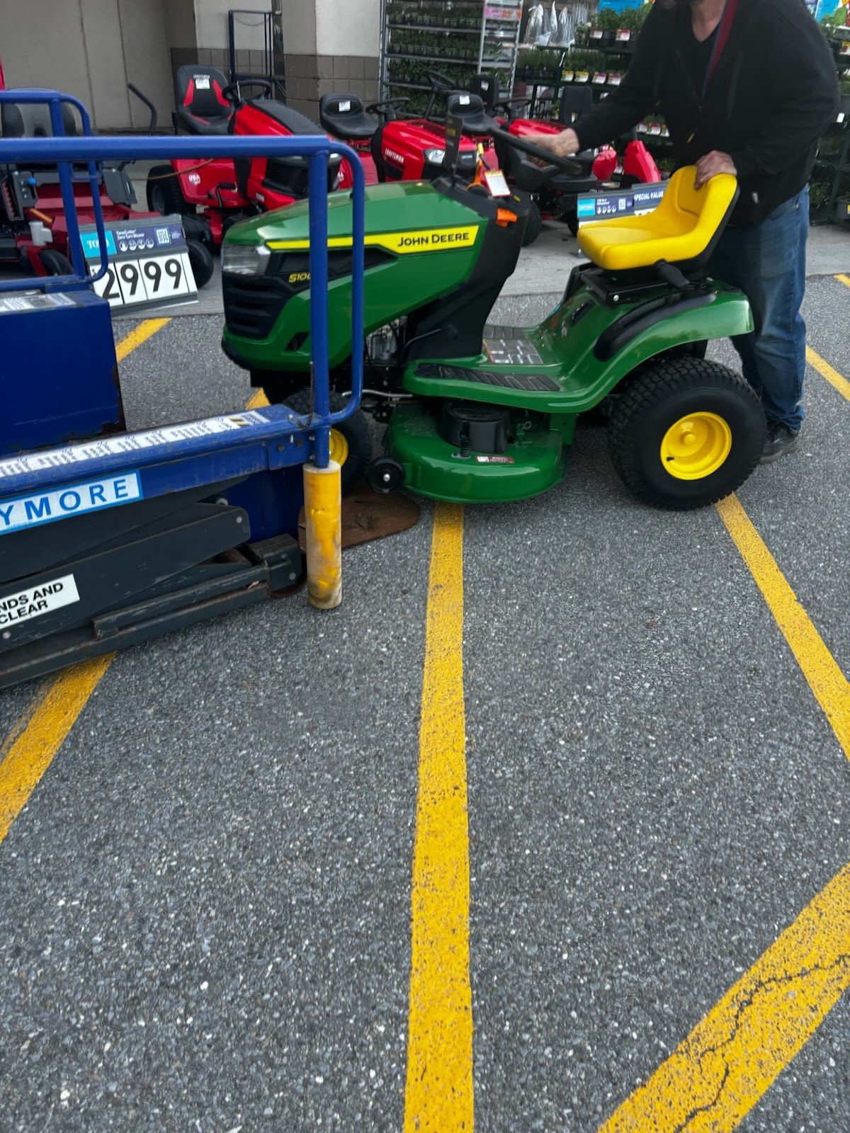
[[[476,119],[470,127],[484,133]],[[575,172],[486,122],[524,156]],[[576,266],[538,326],[487,323],[513,272],[530,201],[479,167],[456,176],[451,146],[433,182],[366,190],[365,393],[333,437],[343,489],[364,470],[379,492],[507,502],[564,475],[576,420],[602,407],[624,484],[661,508],[728,495],[759,460],[758,398],[705,359],[706,343],[753,329],[746,297],[705,272],[738,188],[722,174],[699,190],[679,170],[658,208],[583,227]],[[457,147],[454,147],[457,148]],[[502,195],[494,195],[501,189]],[[331,381],[350,389],[351,202],[329,199]],[[294,204],[230,229],[223,246],[224,352],[272,402],[311,412],[308,210]],[[549,281],[541,281],[549,287]],[[363,414],[385,423],[372,458]]]

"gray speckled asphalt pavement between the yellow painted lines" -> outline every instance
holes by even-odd
[[[805,310],[850,375],[850,290]],[[131,427],[245,404],[220,331],[125,359]],[[809,369],[805,403],[739,497],[848,674],[850,402]],[[333,613],[112,662],[0,845],[1,1128],[402,1127],[431,514],[346,553]],[[594,1133],[850,860],[848,761],[717,512],[637,503],[604,429],[467,508],[464,565],[476,1126]],[[849,1026],[845,998],[740,1128],[850,1128]]]

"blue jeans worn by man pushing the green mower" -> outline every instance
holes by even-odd
[[[802,424],[806,324],[800,315],[806,289],[808,186],[760,224],[728,228],[712,255],[712,275],[743,291],[755,331],[732,339],[743,376],[762,399],[768,423],[796,433]]]

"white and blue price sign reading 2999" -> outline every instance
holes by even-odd
[[[107,274],[92,287],[110,307],[160,307],[194,303],[197,287],[179,216],[141,218],[135,224],[104,225]],[[101,270],[100,241],[94,225],[80,230],[88,274]]]

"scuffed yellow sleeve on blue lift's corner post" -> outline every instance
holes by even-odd
[[[307,595],[317,610],[342,602],[342,489],[340,466],[304,466]]]

